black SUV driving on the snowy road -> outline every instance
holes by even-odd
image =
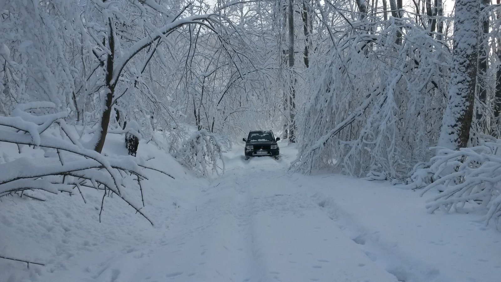
[[[277,141],[280,137],[275,138],[272,130],[256,130],[250,131],[245,141],[245,160],[250,157],[271,156],[276,160],[279,159],[280,149]]]

